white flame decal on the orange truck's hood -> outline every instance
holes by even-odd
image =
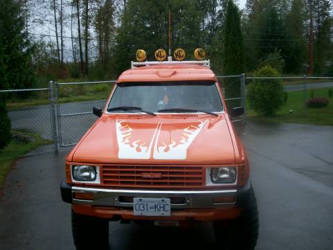
[[[183,129],[174,129],[158,123],[155,131],[135,128],[135,124],[116,120],[118,158],[185,160],[187,149],[207,123],[198,121],[185,124]],[[149,134],[150,133],[150,134]],[[150,141],[147,141],[147,139]],[[153,147],[154,145],[154,147]],[[152,153],[153,150],[153,153]]]

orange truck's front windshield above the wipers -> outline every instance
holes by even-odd
[[[223,111],[216,85],[212,81],[177,81],[159,83],[120,83],[108,109],[122,106],[139,107],[158,112],[163,109],[187,108],[210,112]],[[140,112],[139,110],[112,110],[112,113]],[[177,113],[187,113],[178,110]],[[188,111],[190,112],[190,111]]]

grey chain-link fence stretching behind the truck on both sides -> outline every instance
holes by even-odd
[[[217,78],[228,110],[244,107],[248,117],[253,116],[253,110],[246,106],[246,86],[252,81],[265,84],[273,79],[245,77],[245,74]],[[284,83],[284,90],[287,92],[288,106],[282,108],[284,113],[289,113],[291,107],[296,115],[308,115],[306,103],[309,99],[332,99],[333,78],[296,76],[278,79]],[[105,106],[114,83],[115,81],[50,82],[49,88],[1,90],[0,94],[6,96],[12,131],[34,133],[44,140],[45,145],[31,154],[49,153],[58,152],[59,147],[73,146],[80,140],[97,119],[92,114],[92,107]],[[229,92],[229,88],[236,92]],[[245,121],[245,117],[246,115],[234,122]]]

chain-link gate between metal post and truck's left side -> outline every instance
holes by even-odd
[[[54,83],[59,147],[78,143],[97,117],[92,107],[103,108],[115,81]],[[70,100],[70,101],[69,101]]]

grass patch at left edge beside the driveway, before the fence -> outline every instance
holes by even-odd
[[[12,139],[10,144],[0,150],[0,190],[3,188],[6,175],[9,172],[10,167],[19,156],[23,156],[25,153],[36,149],[42,145],[50,144],[50,140],[44,140],[35,133],[13,131],[17,135],[28,136],[31,138],[31,142],[23,142],[22,140]]]

